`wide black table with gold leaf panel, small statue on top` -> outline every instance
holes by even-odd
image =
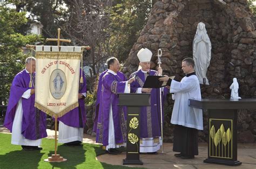
[[[237,114],[239,109],[256,109],[256,99],[190,100],[190,107],[208,110],[208,158],[204,163],[241,165],[237,160]]]

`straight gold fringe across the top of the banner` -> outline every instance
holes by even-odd
[[[36,52],[37,59],[77,59],[80,60],[81,52]]]

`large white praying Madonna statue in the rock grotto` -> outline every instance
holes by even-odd
[[[197,25],[197,32],[193,40],[193,59],[194,59],[194,71],[199,79],[200,84],[209,85],[206,77],[207,68],[211,61],[211,41],[205,29],[205,24],[200,22]]]

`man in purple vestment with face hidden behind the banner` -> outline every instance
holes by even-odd
[[[77,146],[83,142],[84,126],[86,123],[86,111],[84,98],[86,97],[86,79],[82,69],[80,74],[83,76],[83,83],[79,82],[78,103],[79,106],[64,116],[59,117],[59,138],[58,143],[64,143],[68,146]],[[81,74],[82,72],[82,74]]]

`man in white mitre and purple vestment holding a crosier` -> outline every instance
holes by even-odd
[[[150,69],[150,60],[152,52],[147,48],[142,48],[138,54],[139,65],[142,67],[137,72],[131,74],[136,81],[131,83],[131,93],[150,93],[151,106],[144,106],[140,113],[140,150],[143,153],[156,154],[162,145],[161,141],[161,113],[160,113],[160,90],[162,103],[162,117],[164,117],[163,103],[164,96],[167,94],[167,88],[143,88],[146,77],[161,74],[162,69],[157,71]],[[165,91],[165,92],[164,92]],[[164,121],[164,119],[163,119]]]

